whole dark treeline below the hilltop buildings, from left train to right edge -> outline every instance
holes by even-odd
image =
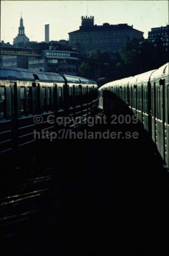
[[[166,47],[160,39],[156,45],[149,41],[142,41],[139,44],[135,41],[127,41],[120,47],[119,55],[115,60],[112,60],[111,54],[101,53],[99,49],[91,51],[88,57],[101,63],[100,67],[98,65],[99,76],[105,77],[103,83],[106,83],[159,68],[168,62]],[[96,79],[94,65],[83,62],[79,66],[79,75]]]

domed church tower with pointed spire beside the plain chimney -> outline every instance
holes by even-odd
[[[13,39],[13,45],[15,46],[24,46],[29,42],[29,38],[25,35],[25,27],[23,26],[23,19],[21,16],[20,26],[18,28],[18,36]]]

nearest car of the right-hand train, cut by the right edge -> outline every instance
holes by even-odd
[[[152,139],[169,166],[169,84],[168,63],[150,77]]]

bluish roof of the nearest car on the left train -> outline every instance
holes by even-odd
[[[7,68],[1,67],[0,69],[1,79],[9,80],[24,80],[24,81],[42,81],[42,82],[64,82],[63,77],[60,74],[47,73],[47,72],[34,72],[28,69],[22,68]]]

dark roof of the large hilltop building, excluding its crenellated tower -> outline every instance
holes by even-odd
[[[102,31],[119,31],[119,30],[134,30],[140,33],[143,33],[140,30],[134,29],[132,26],[128,26],[127,23],[118,24],[118,25],[110,25],[109,23],[103,23],[102,26],[94,25],[94,26],[81,26],[80,29],[76,31],[72,31],[68,34],[75,33],[88,33],[88,32],[102,32]]]

